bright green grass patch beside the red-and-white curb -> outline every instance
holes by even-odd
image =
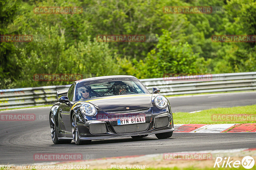
[[[173,113],[174,124],[228,124],[228,123],[256,123],[251,121],[213,121],[212,114],[253,114],[256,116],[256,105],[239,106],[231,108],[215,108],[196,113],[176,112]]]

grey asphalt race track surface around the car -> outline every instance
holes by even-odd
[[[195,111],[214,107],[256,104],[255,93],[204,95],[169,98],[172,112]],[[8,110],[2,113],[34,113],[35,121],[0,121],[0,164],[31,164],[36,153],[81,153],[83,159],[166,152],[256,148],[255,133],[173,133],[168,139],[150,135],[142,139],[115,138],[93,140],[91,145],[54,145],[51,140],[48,113],[50,108]],[[175,114],[174,114],[175,123]],[[51,161],[52,162],[52,161]]]

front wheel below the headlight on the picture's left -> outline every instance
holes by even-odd
[[[78,137],[78,129],[77,129],[77,121],[76,121],[76,114],[73,113],[72,119],[71,119],[71,128],[72,128],[72,135],[73,140],[76,145],[84,145],[84,144],[90,144],[92,140],[80,140]]]

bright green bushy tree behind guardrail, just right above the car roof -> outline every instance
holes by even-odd
[[[139,78],[163,77],[164,74],[194,74],[203,73],[203,58],[193,53],[191,46],[186,43],[172,42],[172,33],[162,30],[156,48],[151,50],[144,61],[136,62],[136,76]],[[158,35],[157,35],[158,36]]]

